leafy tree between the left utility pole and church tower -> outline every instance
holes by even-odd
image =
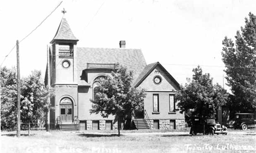
[[[53,96],[54,90],[43,84],[42,73],[38,70],[21,81],[21,120],[22,122],[37,122],[45,120],[45,112],[49,111],[49,97]]]

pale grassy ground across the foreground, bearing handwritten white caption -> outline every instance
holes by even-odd
[[[96,134],[101,132],[102,134]],[[188,133],[143,134],[139,131],[118,137],[117,131],[79,133],[31,131],[20,138],[15,132],[2,132],[1,152],[255,152],[255,130],[214,136],[189,136]],[[170,132],[170,131],[169,131]],[[131,135],[127,133],[133,133]],[[134,134],[138,133],[138,134]]]

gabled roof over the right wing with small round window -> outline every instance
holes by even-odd
[[[162,70],[164,70],[164,73],[167,75],[167,77],[169,77],[174,82],[174,84],[178,88],[180,88],[179,83],[172,77],[172,75],[159,62],[148,64],[142,70],[142,72],[138,75],[138,78],[136,79],[135,83],[133,83],[133,86],[138,87],[144,81],[144,79],[146,79],[148,77],[148,75],[155,69],[156,66],[159,66]]]

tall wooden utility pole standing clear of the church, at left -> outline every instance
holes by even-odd
[[[17,47],[17,137],[20,137],[20,55],[19,55],[19,40],[16,43]]]

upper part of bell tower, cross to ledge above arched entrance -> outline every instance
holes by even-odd
[[[65,9],[62,11],[65,15]],[[66,18],[62,17],[57,32],[51,40],[53,50],[53,61],[51,69],[53,76],[52,85],[77,84],[77,42]]]

